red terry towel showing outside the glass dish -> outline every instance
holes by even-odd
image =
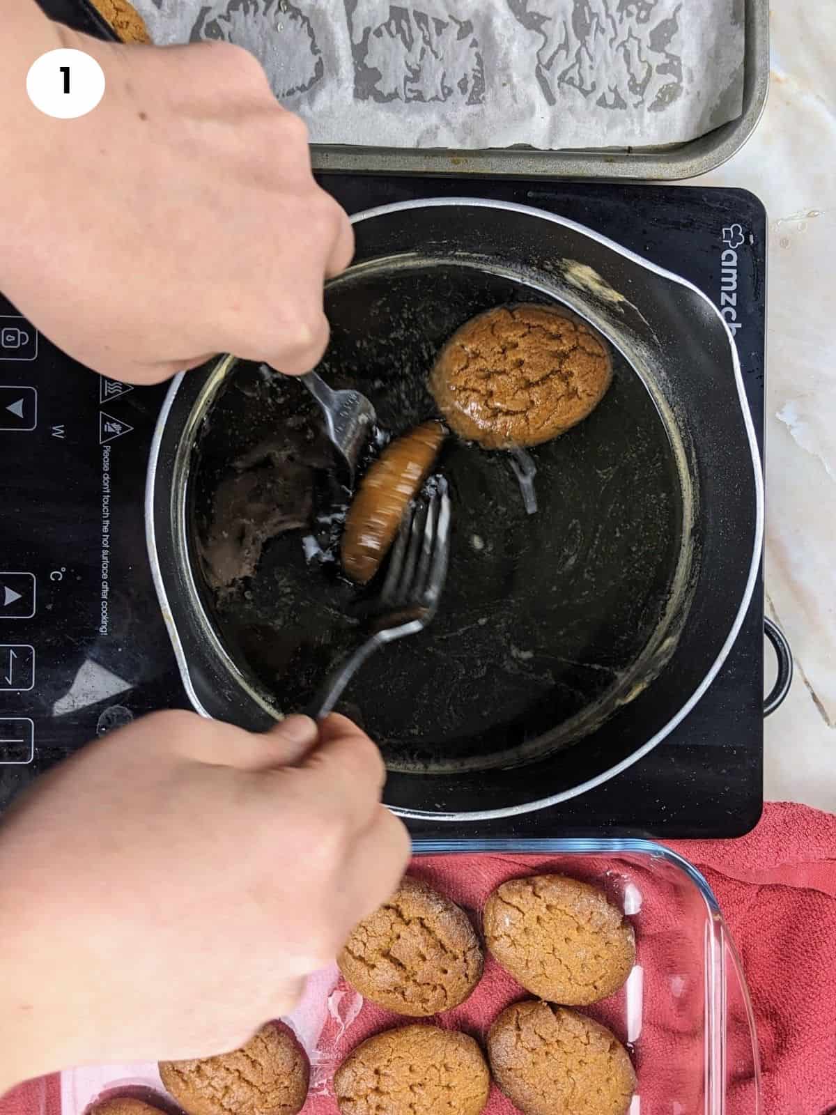
[[[706,876],[737,942],[766,1115],[836,1112],[836,816],[771,803],[741,840],[671,846]]]

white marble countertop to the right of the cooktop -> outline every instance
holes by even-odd
[[[795,680],[765,729],[765,796],[836,812],[836,4],[777,0],[769,100],[749,143],[698,182],[769,216],[767,612]],[[774,676],[767,647],[767,677]]]

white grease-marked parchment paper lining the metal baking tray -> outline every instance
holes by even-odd
[[[134,0],[263,64],[315,143],[647,147],[740,115],[743,0]]]

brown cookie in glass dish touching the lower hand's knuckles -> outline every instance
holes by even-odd
[[[354,928],[338,962],[367,999],[426,1018],[465,1001],[482,978],[483,954],[464,910],[407,875]]]

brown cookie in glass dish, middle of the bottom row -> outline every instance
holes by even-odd
[[[342,1115],[478,1115],[490,1074],[466,1034],[405,1026],[358,1046],[333,1086]]]

